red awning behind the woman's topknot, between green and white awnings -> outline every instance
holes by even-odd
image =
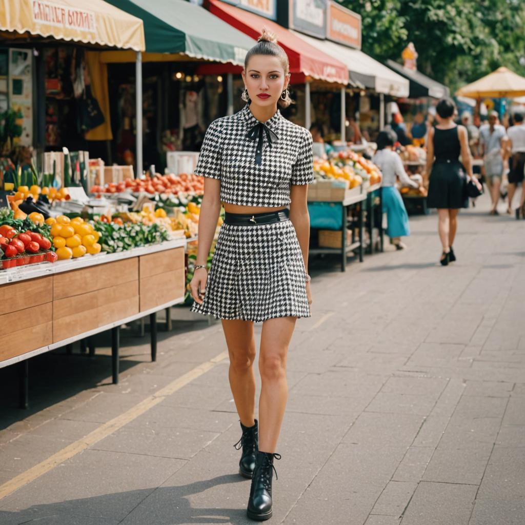
[[[272,22],[272,20],[226,4],[225,2],[220,2],[219,0],[208,0],[206,5],[211,13],[255,40],[257,40],[261,34],[263,27],[275,33],[279,44],[288,55],[293,83],[304,82],[306,77],[327,82],[337,82],[343,85],[348,83],[348,67],[344,65],[343,62],[306,43],[285,27],[281,27],[275,22]],[[203,71],[203,69],[211,66],[213,65],[202,65],[199,68],[199,72],[213,73],[211,70]]]

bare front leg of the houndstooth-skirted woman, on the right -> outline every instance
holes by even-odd
[[[268,319],[262,324],[259,371],[259,450],[274,453],[288,398],[286,359],[295,317]]]

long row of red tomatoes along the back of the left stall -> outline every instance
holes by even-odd
[[[181,173],[180,175],[160,175],[153,177],[146,175],[143,178],[132,178],[119,183],[110,183],[107,186],[92,186],[90,193],[132,193],[146,192],[153,194],[178,195],[180,193],[202,194],[204,192],[204,178],[195,174]]]

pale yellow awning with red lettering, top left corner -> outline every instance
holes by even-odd
[[[16,34],[145,49],[142,20],[102,0],[0,0],[0,39]]]

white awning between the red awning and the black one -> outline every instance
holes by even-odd
[[[307,41],[308,44],[322,50],[323,53],[341,60],[348,67],[351,81],[362,83],[377,93],[393,97],[408,97],[409,81],[363,51],[351,49],[330,40],[320,40],[303,35],[297,31],[292,32]]]

